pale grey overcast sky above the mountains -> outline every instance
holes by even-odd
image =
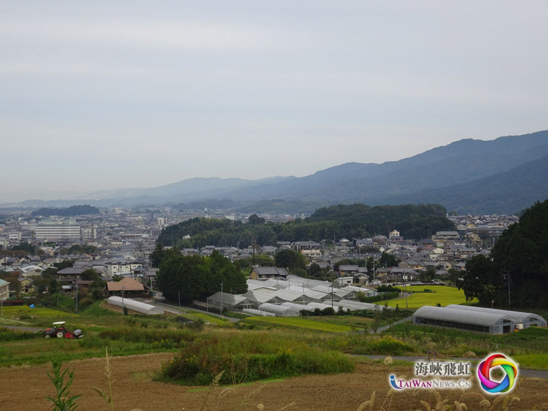
[[[0,0],[0,203],[548,128],[548,2]]]

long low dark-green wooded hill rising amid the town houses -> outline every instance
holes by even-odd
[[[316,210],[307,219],[288,223],[250,223],[224,219],[196,218],[162,229],[158,242],[183,247],[247,247],[251,239],[258,245],[275,245],[277,241],[321,241],[324,239],[366,238],[387,235],[397,229],[404,238],[424,238],[437,231],[453,230],[447,211],[438,204],[421,206],[375,206],[353,204]],[[184,238],[190,236],[190,239]]]

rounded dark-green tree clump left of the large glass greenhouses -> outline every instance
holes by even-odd
[[[171,253],[162,260],[157,281],[167,299],[177,301],[180,295],[184,303],[209,297],[221,290],[221,283],[225,292],[247,291],[245,276],[218,251],[208,257]]]

